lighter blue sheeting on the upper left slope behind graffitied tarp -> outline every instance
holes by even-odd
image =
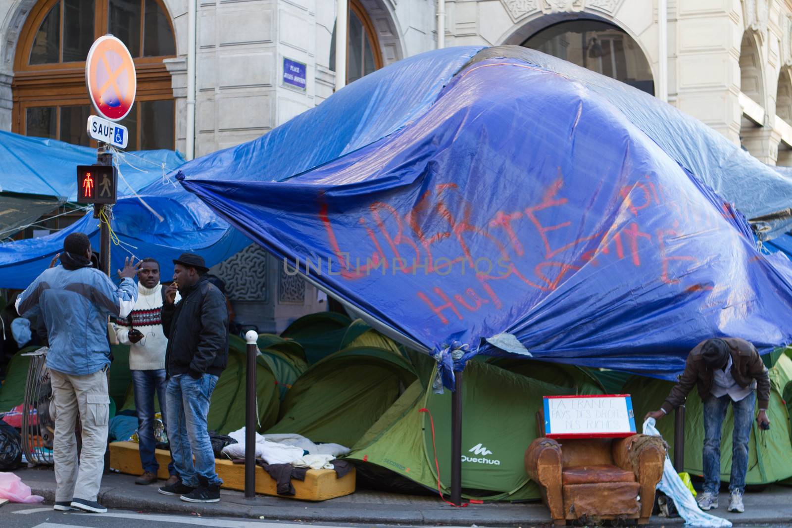
[[[259,139],[188,161],[206,180],[284,180],[391,134],[435,101],[481,46],[402,59],[346,86]]]

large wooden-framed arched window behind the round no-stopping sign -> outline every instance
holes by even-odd
[[[160,0],[45,0],[31,10],[17,43],[13,131],[90,145],[95,113],[85,81],[93,41],[117,36],[135,58],[135,105],[121,121],[128,150],[173,149],[176,112],[163,59],[176,55],[170,17]]]

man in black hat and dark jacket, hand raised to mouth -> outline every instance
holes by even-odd
[[[173,283],[162,304],[162,329],[168,336],[168,439],[181,481],[159,492],[186,502],[216,503],[223,481],[215,472],[206,420],[211,393],[228,363],[226,298],[207,280],[208,268],[200,256],[183,253],[173,264]],[[177,291],[181,301],[174,306]]]

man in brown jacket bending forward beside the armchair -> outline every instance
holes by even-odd
[[[660,419],[673,408],[682,405],[693,386],[699,388],[704,403],[704,491],[699,495],[699,507],[710,510],[718,507],[721,485],[721,427],[732,404],[734,431],[732,439],[732,473],[729,480],[729,511],[745,511],[742,495],[745,473],[748,473],[748,439],[757,394],[759,415],[756,422],[763,429],[770,427],[767,404],[770,400],[770,378],[756,348],[738,338],[710,339],[699,343],[687,355],[680,382],[658,411],[647,418]]]

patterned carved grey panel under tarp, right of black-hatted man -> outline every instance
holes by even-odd
[[[232,301],[267,300],[267,252],[251,244],[210,270],[226,283]]]

